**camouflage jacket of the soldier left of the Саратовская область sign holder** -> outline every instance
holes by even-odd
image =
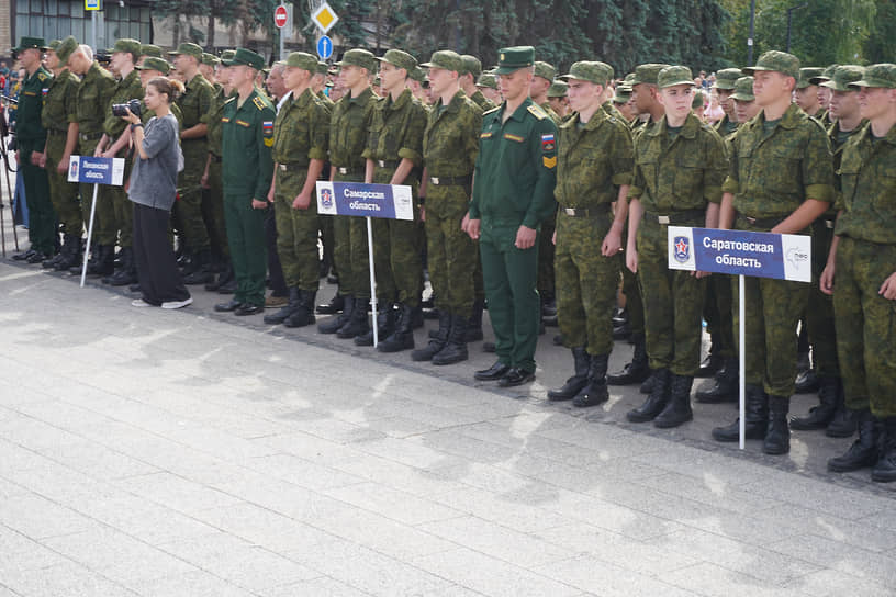
[[[635,184],[628,192],[646,212],[702,210],[721,201],[728,169],[721,137],[708,124],[688,114],[671,138],[665,119],[635,143]]]

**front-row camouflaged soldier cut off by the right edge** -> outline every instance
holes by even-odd
[[[835,72],[835,80],[837,74]],[[828,469],[873,466],[871,478],[896,481],[896,65],[865,67],[861,116],[840,162],[833,241],[821,290],[833,292],[837,352],[847,406],[859,439]]]

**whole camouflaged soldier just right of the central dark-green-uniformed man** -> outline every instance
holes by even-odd
[[[609,395],[607,360],[613,350],[613,308],[619,251],[634,168],[625,122],[603,110],[609,65],[579,61],[569,75],[572,117],[557,146],[557,315],[574,374],[548,399],[594,406]],[[616,205],[614,214],[613,205]]]

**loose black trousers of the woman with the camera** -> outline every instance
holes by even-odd
[[[183,285],[168,239],[170,212],[134,203],[134,262],[143,300],[150,305],[186,301],[190,292]]]

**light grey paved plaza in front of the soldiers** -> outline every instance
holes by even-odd
[[[193,290],[134,308],[0,261],[0,596],[896,590],[896,487],[827,473],[847,440],[771,459],[709,439],[731,405],[660,431],[624,423],[636,387],[548,403],[552,328],[536,383],[501,391],[472,381],[481,342],[436,368]]]

